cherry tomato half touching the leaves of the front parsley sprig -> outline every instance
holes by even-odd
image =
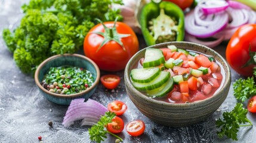
[[[118,116],[114,117],[112,122],[107,124],[107,130],[112,133],[121,133],[124,128],[124,121]]]

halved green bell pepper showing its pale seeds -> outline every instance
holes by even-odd
[[[172,2],[146,4],[141,11],[140,25],[148,46],[184,39],[184,13]]]

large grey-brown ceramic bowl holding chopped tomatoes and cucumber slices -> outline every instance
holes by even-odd
[[[198,123],[210,116],[214,111],[220,107],[229,93],[231,83],[231,72],[229,66],[218,54],[211,48],[208,48],[197,43],[190,42],[167,42],[158,45],[149,46],[147,48],[166,48],[168,45],[175,45],[177,48],[190,49],[201,52],[202,54],[212,55],[215,60],[221,64],[223,71],[223,82],[221,87],[215,92],[212,97],[206,100],[191,102],[186,104],[171,104],[164,101],[154,100],[137,91],[131,83],[130,74],[134,67],[137,67],[140,58],[144,57],[146,48],[138,51],[127,63],[125,67],[125,88],[127,94],[134,105],[149,119],[156,123],[165,126],[182,127]]]

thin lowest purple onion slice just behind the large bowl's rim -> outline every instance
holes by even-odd
[[[219,45],[223,41],[223,38],[224,37],[218,38],[215,41],[200,41],[195,36],[189,35],[187,33],[185,35],[185,41],[199,43],[201,45],[209,46],[209,48],[214,48],[215,46]]]

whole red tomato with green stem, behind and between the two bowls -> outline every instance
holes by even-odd
[[[92,27],[84,40],[85,55],[101,70],[125,69],[128,60],[137,51],[137,36],[131,27],[122,22],[109,21],[97,24]]]

